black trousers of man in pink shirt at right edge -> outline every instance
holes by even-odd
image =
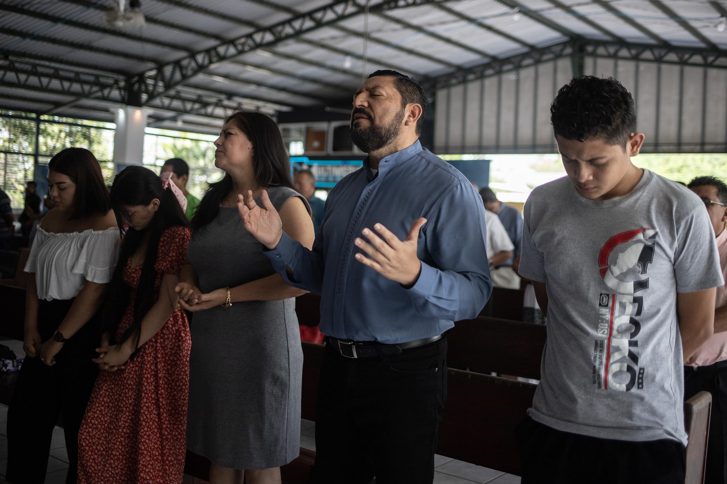
[[[727,361],[696,368],[684,367],[684,399],[688,400],[701,391],[712,394],[704,484],[727,484]]]

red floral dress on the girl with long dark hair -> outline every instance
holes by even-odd
[[[156,291],[163,273],[179,274],[190,231],[176,226],[159,240]],[[133,321],[141,265],[123,278],[131,301],[119,324]],[[123,370],[101,372],[79,431],[79,483],[181,483],[185,462],[189,352],[187,316],[177,308]]]

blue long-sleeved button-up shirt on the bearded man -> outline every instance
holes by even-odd
[[[353,257],[364,228],[382,223],[403,240],[419,217],[427,219],[417,244],[422,272],[411,289]],[[313,250],[283,234],[265,254],[288,284],[321,294],[324,335],[393,344],[441,335],[452,321],[478,315],[492,290],[486,240],[480,195],[417,141],[382,159],[378,176],[367,159],[336,184]]]

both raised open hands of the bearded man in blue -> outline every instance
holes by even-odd
[[[252,234],[258,242],[273,250],[283,236],[283,223],[278,212],[273,207],[265,190],[260,194],[262,208],[255,203],[252,192],[246,196],[237,196],[237,208],[245,229]],[[374,224],[379,235],[368,228],[361,234],[369,240],[364,241],[356,237],[354,243],[369,255],[358,253],[356,261],[369,266],[391,281],[398,282],[403,287],[414,286],[422,273],[422,263],[417,257],[417,239],[419,230],[427,223],[426,218],[417,218],[411,225],[406,239],[399,240],[390,230],[381,223]]]

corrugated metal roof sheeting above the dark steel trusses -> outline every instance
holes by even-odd
[[[155,63],[178,60],[217,45],[221,39],[238,38],[257,26],[273,25],[295,12],[308,12],[331,1],[143,0],[146,27],[116,30],[105,22],[105,12],[116,0],[0,0],[0,56],[9,54],[11,59],[26,58],[39,65],[54,61],[68,70],[93,67],[133,75],[152,69]],[[561,0],[565,9],[552,0],[520,0],[519,12],[500,0],[450,0],[441,8],[422,5],[382,15],[372,13],[368,18],[366,70],[397,67],[430,77],[481,64],[489,56],[509,57],[529,46],[554,44],[566,40],[568,33],[640,44],[655,44],[654,37],[658,36],[666,44],[703,47],[705,43],[688,31],[691,27],[708,42],[720,48],[727,46],[726,29],[718,29],[725,20],[720,20],[720,12],[710,2],[661,1],[674,15],[667,15],[648,0]],[[604,4],[616,12],[608,12]],[[725,0],[718,5],[727,9]],[[545,25],[539,17],[554,25]],[[185,84],[206,89],[211,95],[217,91],[220,97],[247,96],[279,105],[348,99],[364,68],[360,58],[364,25],[364,15],[356,15],[262,51],[242,54],[235,62],[221,62],[206,69],[208,74],[196,75]],[[650,34],[644,33],[645,29]],[[57,84],[46,86],[55,89]],[[57,95],[42,98],[43,93],[7,86],[0,88],[0,97],[3,93],[7,97],[0,99],[0,107],[12,104],[13,109],[39,110],[40,99],[53,105],[73,99]],[[18,97],[27,97],[25,108]],[[84,107],[89,112],[103,111],[109,105],[113,103],[76,102],[66,112],[78,115]],[[181,105],[172,103],[172,108],[181,109]]]

